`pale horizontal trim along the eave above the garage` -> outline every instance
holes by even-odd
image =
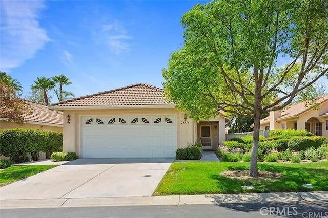
[[[112,106],[48,106],[51,110],[88,110],[107,108],[175,108],[175,104],[154,104],[154,105],[112,105]]]

